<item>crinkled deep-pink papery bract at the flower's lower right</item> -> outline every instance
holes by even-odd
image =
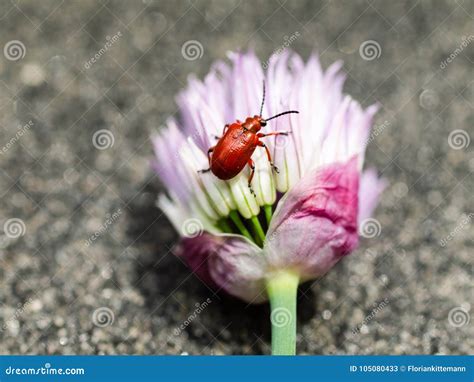
[[[326,273],[358,243],[357,158],[302,178],[280,201],[264,246],[270,266],[303,279]]]

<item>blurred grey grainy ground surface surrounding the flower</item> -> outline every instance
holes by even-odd
[[[389,181],[375,234],[301,286],[298,353],[472,353],[473,17],[467,0],[2,1],[0,352],[270,352],[268,306],[173,256],[149,136],[190,74],[289,48],[343,60],[345,91],[380,104],[367,163]]]

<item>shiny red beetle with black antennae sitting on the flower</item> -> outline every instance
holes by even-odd
[[[298,113],[295,110],[285,111],[274,115],[271,118],[262,118],[263,104],[265,102],[265,83],[263,84],[263,99],[262,105],[260,106],[260,115],[253,117],[247,117],[245,122],[237,120],[232,124],[224,126],[222,137],[216,137],[218,142],[215,146],[211,147],[207,151],[209,158],[209,168],[201,170],[200,172],[212,171],[212,173],[219,179],[228,180],[238,175],[246,164],[250,166],[252,171],[249,176],[249,188],[250,191],[255,195],[252,190],[251,183],[253,175],[255,173],[255,165],[251,158],[253,152],[257,146],[265,148],[267,152],[267,158],[270,165],[278,173],[278,168],[273,164],[270,150],[263,143],[260,138],[277,136],[277,135],[288,135],[287,131],[274,131],[272,133],[264,134],[259,133],[260,129],[267,125],[267,122],[271,119],[281,117],[285,114]],[[212,157],[211,157],[212,153]]]

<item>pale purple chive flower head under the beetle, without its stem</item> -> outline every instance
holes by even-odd
[[[229,58],[203,81],[189,79],[177,98],[181,119],[153,137],[153,168],[168,191],[158,206],[183,236],[177,255],[203,281],[257,303],[272,298],[269,283],[282,273],[316,278],[357,247],[358,222],[384,188],[375,170],[362,171],[377,106],[363,109],[343,95],[340,62],[323,71],[316,55],[305,64],[285,51],[264,73],[252,52]],[[264,127],[290,134],[262,138],[280,171],[257,148],[254,196],[249,169],[229,181],[198,171],[209,167],[207,150],[226,123],[258,113],[263,81],[264,117],[299,114]],[[186,234],[190,219],[202,225],[200,235]]]

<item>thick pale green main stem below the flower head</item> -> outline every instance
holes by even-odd
[[[296,293],[299,276],[281,271],[267,281],[272,324],[272,355],[296,354]]]

